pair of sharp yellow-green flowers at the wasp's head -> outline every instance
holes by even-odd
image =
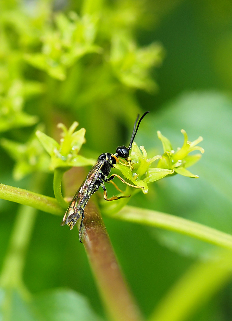
[[[138,145],[134,142],[130,153],[132,170],[130,166],[122,163],[115,164],[114,167],[119,169],[124,177],[132,181],[134,185],[141,187],[145,194],[148,192],[147,183],[154,182],[167,175],[177,173],[187,177],[198,178],[197,175],[192,174],[186,168],[200,160],[201,154],[189,155],[189,153],[195,150],[199,150],[201,153],[204,152],[202,147],[196,146],[203,138],[200,136],[194,142],[190,142],[186,132],[183,129],[181,132],[184,135],[184,143],[176,151],[172,149],[170,141],[158,131],[158,138],[161,140],[164,149],[162,156],[156,155],[148,158],[144,146],[138,148]],[[157,159],[159,159],[157,166],[152,166]]]

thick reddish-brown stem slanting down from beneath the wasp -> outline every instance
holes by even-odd
[[[82,240],[109,319],[143,320],[122,276],[105,225],[92,199],[85,211]]]

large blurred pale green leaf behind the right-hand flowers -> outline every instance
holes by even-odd
[[[196,162],[191,169],[199,175],[199,179],[192,180],[175,175],[168,178],[168,182],[164,181],[166,184],[157,181],[156,195],[151,199],[147,197],[147,207],[179,215],[232,234],[231,124],[232,100],[224,93],[215,91],[182,94],[158,115],[150,114],[147,117],[146,128],[141,127],[137,136],[138,143],[146,140],[148,150],[160,149],[154,128],[158,128],[167,137],[176,137],[172,139],[175,150],[183,145],[183,140],[177,133],[181,128],[185,128],[189,138],[198,135],[204,137],[202,147],[206,152],[201,161]],[[198,154],[190,154],[183,159],[182,164],[187,167],[198,159]],[[179,168],[174,169],[183,171]],[[211,247],[202,242],[177,233],[156,231],[154,235],[162,244],[184,255],[202,257],[209,255],[211,251]]]

